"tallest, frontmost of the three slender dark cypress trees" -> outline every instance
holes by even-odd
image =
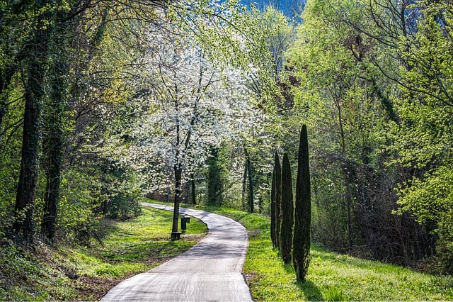
[[[302,125],[297,157],[296,208],[294,210],[294,237],[292,263],[299,281],[304,281],[309,269],[310,254],[310,169],[309,144],[306,125]]]

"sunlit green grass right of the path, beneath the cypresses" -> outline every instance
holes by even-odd
[[[311,248],[305,282],[297,282],[292,265],[283,264],[270,241],[270,220],[227,208],[209,207],[248,229],[243,273],[257,301],[453,301],[453,277]]]

